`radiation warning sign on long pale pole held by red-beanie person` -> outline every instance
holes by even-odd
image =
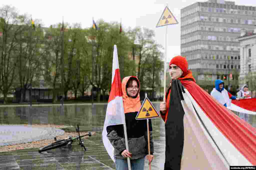
[[[156,25],[156,27],[163,27],[166,26],[166,31],[165,31],[165,60],[164,60],[164,102],[165,102],[165,92],[166,92],[166,60],[167,60],[167,31],[168,31],[168,25],[170,24],[178,24],[178,21],[168,8],[168,4],[166,4],[166,7]]]

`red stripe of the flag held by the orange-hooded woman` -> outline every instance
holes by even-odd
[[[115,76],[114,76],[113,83],[111,85],[108,102],[115,99],[116,96],[122,96],[122,85],[121,85],[119,69],[115,69]]]

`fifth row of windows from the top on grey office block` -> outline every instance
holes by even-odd
[[[240,48],[237,46],[222,46],[222,45],[191,45],[188,47],[181,48],[181,52],[185,53],[188,51],[198,50],[198,49],[209,49],[209,50],[228,50],[228,51],[240,51]]]

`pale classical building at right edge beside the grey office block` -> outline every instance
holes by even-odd
[[[237,40],[240,42],[239,85],[241,86],[250,84],[249,81],[253,77],[256,80],[256,28],[253,31],[241,30],[241,35]]]

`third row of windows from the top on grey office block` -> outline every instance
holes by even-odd
[[[216,31],[216,32],[234,32],[234,33],[240,33],[241,28],[231,28],[231,27],[211,27],[211,26],[205,26],[205,25],[195,25],[193,27],[182,29],[181,35],[185,35],[194,31]],[[245,29],[246,30],[246,29]]]

